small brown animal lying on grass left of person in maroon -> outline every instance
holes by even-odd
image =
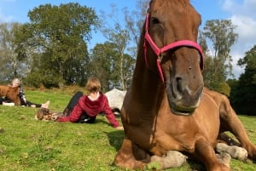
[[[55,121],[58,119],[58,117],[61,117],[61,116],[63,116],[62,112],[54,112],[54,111],[50,111],[47,108],[41,107],[40,109],[38,109],[37,115],[35,116],[35,118],[37,120]]]

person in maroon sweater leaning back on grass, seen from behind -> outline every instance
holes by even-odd
[[[86,83],[86,90],[89,93],[88,95],[83,95],[82,92],[73,95],[73,98],[69,101],[63,112],[66,117],[59,117],[57,121],[95,123],[96,116],[104,112],[108,118],[108,122],[114,128],[123,129],[123,127],[119,126],[119,122],[109,107],[107,96],[100,91],[101,83],[96,77],[90,77]]]

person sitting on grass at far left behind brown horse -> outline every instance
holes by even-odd
[[[44,107],[44,108],[48,108],[49,100],[46,101],[44,104],[32,103],[31,101],[26,100],[26,95],[24,93],[23,88],[20,85],[20,79],[19,78],[13,79],[12,83],[10,84],[10,86],[19,87],[20,105],[29,106],[29,107]],[[5,99],[3,100],[2,103],[3,103],[3,105],[15,105],[15,103],[13,101],[9,100],[7,97],[5,97]]]

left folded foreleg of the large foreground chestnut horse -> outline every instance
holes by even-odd
[[[114,158],[114,164],[121,168],[140,168],[150,162],[150,156],[129,139],[124,139],[123,144]]]

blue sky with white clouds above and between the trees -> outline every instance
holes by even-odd
[[[17,21],[20,23],[28,22],[27,13],[40,4],[51,3],[59,5],[61,3],[80,3],[96,10],[110,12],[110,4],[116,4],[118,9],[127,7],[136,9],[136,0],[0,0],[0,23]],[[242,58],[248,50],[256,45],[256,0],[190,0],[190,3],[201,14],[202,26],[206,20],[228,19],[232,20],[237,26],[236,32],[239,34],[237,43],[231,49],[233,57],[233,72],[239,77],[243,68],[236,66],[238,59]],[[120,14],[120,20],[122,19]],[[98,32],[93,35],[89,47],[96,43],[103,43],[105,39]]]

